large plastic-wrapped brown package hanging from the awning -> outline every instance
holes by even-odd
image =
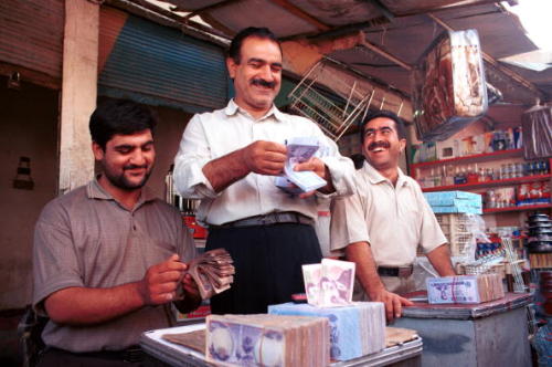
[[[414,120],[421,140],[445,140],[487,112],[476,30],[443,33],[423,53],[412,76]]]

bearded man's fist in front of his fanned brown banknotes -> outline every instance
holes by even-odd
[[[144,303],[153,306],[174,300],[180,277],[187,269],[188,265],[179,261],[178,254],[150,266],[138,285]]]

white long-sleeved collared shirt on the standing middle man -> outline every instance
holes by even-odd
[[[252,172],[216,193],[202,171],[209,161],[253,141],[285,144],[294,137],[305,136],[315,136],[323,144],[319,158],[330,170],[336,195],[351,193],[352,162],[339,154],[336,143],[326,137],[318,125],[284,114],[275,106],[264,117],[254,119],[234,101],[223,109],[198,114],[188,124],[174,159],[177,189],[185,198],[202,199],[197,216],[202,223],[220,226],[274,211],[296,211],[316,219],[316,197],[290,196],[274,185],[274,176]]]

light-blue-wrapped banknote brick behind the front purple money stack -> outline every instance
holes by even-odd
[[[344,307],[320,308],[284,303],[268,306],[269,314],[327,317],[330,323],[330,356],[349,360],[385,347],[385,313],[382,302],[354,302]]]

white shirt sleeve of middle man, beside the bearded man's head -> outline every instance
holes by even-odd
[[[184,198],[216,198],[211,182],[203,175],[203,166],[211,161],[212,155],[201,115],[194,115],[182,134],[180,147],[174,158],[174,184]]]

